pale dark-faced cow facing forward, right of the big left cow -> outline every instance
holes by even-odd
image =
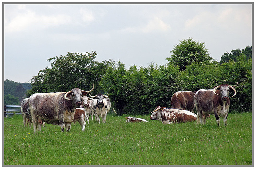
[[[90,95],[90,93],[89,93]],[[103,95],[103,94],[97,94],[95,96],[91,96],[93,99],[92,101],[92,111],[95,114],[96,121],[100,123],[100,117],[102,117],[102,123],[106,122],[106,116],[108,114],[108,111],[110,110],[111,107],[111,102],[108,96]]]

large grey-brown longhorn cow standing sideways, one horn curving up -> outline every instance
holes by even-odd
[[[66,127],[70,131],[74,119],[76,107],[81,105],[82,95],[90,91],[78,88],[68,92],[59,93],[35,93],[29,97],[29,108],[32,116],[34,131],[41,131],[42,122],[59,125],[61,131]]]

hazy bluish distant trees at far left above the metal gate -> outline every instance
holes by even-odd
[[[4,81],[4,105],[20,105],[29,89],[31,89],[30,83],[18,83],[6,79]]]

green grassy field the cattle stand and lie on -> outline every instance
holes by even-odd
[[[252,165],[252,113],[229,114],[227,127],[214,115],[206,125],[126,123],[108,115],[105,124],[79,123],[70,132],[46,124],[24,127],[21,115],[4,119],[4,165]]]

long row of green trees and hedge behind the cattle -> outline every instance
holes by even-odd
[[[170,108],[176,91],[213,89],[226,83],[237,90],[237,95],[230,98],[230,113],[252,110],[252,46],[226,52],[220,62],[210,57],[204,43],[192,38],[180,41],[170,52],[166,64],[152,62],[148,67],[134,65],[128,70],[120,61],[97,62],[96,52],[68,52],[48,59],[53,61],[52,68],[40,70],[26,94],[29,97],[76,87],[88,90],[95,84],[91,95],[108,94],[118,115],[143,115],[158,105]]]

